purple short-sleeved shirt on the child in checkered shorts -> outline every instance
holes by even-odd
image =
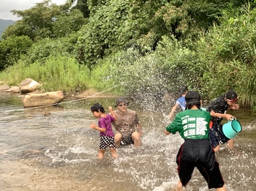
[[[98,126],[100,126],[100,128],[105,128],[106,131],[105,132],[100,132],[100,136],[114,136],[114,132],[112,131],[112,126],[111,123],[112,121],[114,121],[115,118],[113,116],[110,116],[110,114],[106,114],[106,117],[102,117],[99,119],[98,121]]]

